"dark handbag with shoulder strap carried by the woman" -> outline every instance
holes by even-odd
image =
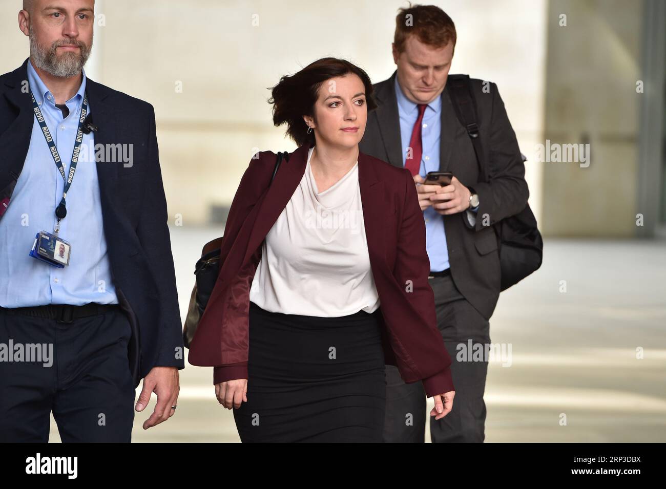
[[[288,152],[278,152],[275,168],[268,184],[269,187],[275,179],[283,159],[285,161],[289,160]],[[201,251],[200,259],[194,265],[194,288],[192,289],[192,295],[190,295],[190,305],[187,309],[185,324],[182,329],[182,342],[185,348],[190,347],[190,342],[196,333],[196,327],[204,313],[204,309],[206,309],[208,299],[210,299],[210,294],[212,294],[212,289],[215,287],[217,277],[220,274],[222,242],[224,242],[224,236],[206,243]]]

